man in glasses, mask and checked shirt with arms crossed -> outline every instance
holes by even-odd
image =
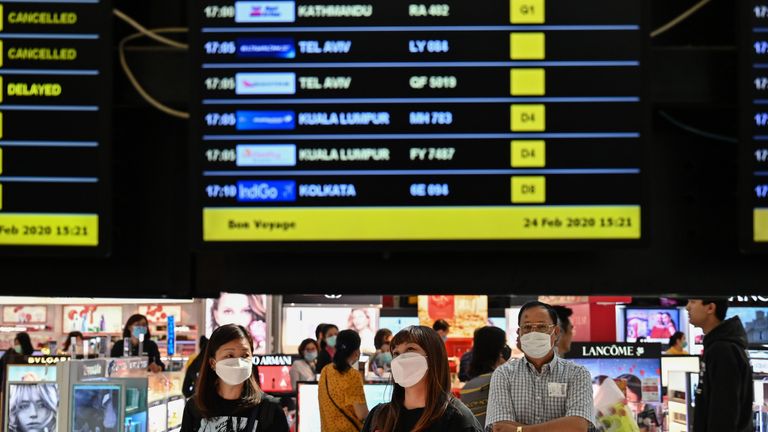
[[[494,371],[488,395],[486,431],[586,432],[592,425],[592,377],[560,359],[557,312],[534,301],[520,308],[518,348],[525,357]]]

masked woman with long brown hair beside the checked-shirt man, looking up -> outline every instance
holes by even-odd
[[[363,432],[482,432],[451,394],[448,355],[429,327],[411,326],[392,339],[392,401],[368,415]]]

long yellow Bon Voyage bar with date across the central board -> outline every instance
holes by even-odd
[[[634,205],[203,209],[209,242],[639,238]]]

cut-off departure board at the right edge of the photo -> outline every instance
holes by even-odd
[[[768,251],[768,1],[742,8],[741,246]]]

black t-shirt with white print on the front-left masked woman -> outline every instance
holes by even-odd
[[[248,419],[256,409],[256,430],[246,431]],[[226,400],[216,395],[209,418],[203,418],[194,399],[187,400],[181,432],[288,432],[288,421],[280,405],[269,400],[262,399],[257,406],[243,407],[239,400]]]

